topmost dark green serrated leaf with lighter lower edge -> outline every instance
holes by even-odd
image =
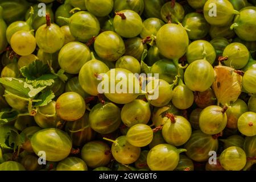
[[[27,67],[20,68],[20,72],[26,78],[28,84],[35,88],[38,86],[51,86],[54,83],[56,75],[51,73],[51,69],[42,61],[36,60]]]

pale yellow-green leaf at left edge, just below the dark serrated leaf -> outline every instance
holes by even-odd
[[[10,89],[10,91],[14,90],[15,93],[19,93],[20,96],[27,96],[28,98],[35,97],[46,88],[46,86],[34,88],[34,86],[20,78],[0,78],[0,83],[3,84],[6,89]]]

